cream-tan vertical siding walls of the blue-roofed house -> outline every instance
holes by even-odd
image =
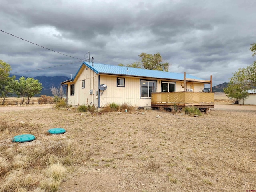
[[[125,87],[117,87],[117,77],[125,78]],[[85,80],[85,88],[82,88],[82,80]],[[106,84],[107,89],[103,92],[98,90],[99,76],[90,68],[86,70],[83,66],[76,76],[74,82],[68,83],[68,105],[87,105],[94,104],[96,107],[103,107],[108,103],[127,103],[134,107],[150,107],[151,98],[140,99],[140,78],[100,75],[100,84]],[[150,79],[149,79],[150,80]],[[162,82],[157,80],[156,92],[161,92]],[[165,82],[174,82],[166,80]],[[70,84],[75,83],[75,96],[70,96]],[[176,91],[184,91],[183,81],[176,82]],[[204,84],[187,82],[187,88],[193,91],[201,92]],[[93,94],[90,94],[93,90]],[[98,95],[96,92],[98,91]],[[102,94],[102,95],[101,95]],[[100,106],[98,100],[100,99]],[[88,103],[87,103],[88,100]]]

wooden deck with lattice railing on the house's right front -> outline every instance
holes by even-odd
[[[163,92],[152,93],[151,106],[171,108],[195,106],[204,109],[214,107],[214,93],[212,92]]]

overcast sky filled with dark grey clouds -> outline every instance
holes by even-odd
[[[114,65],[159,52],[170,72],[206,80],[212,75],[218,85],[256,60],[248,50],[256,42],[255,0],[0,0],[0,5],[0,60],[14,75],[74,76],[88,52],[94,62]]]

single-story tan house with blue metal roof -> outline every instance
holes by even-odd
[[[101,108],[113,102],[151,107],[151,93],[202,92],[204,84],[209,83],[212,80],[186,73],[83,62],[74,78],[62,85],[67,86],[68,105],[89,104]]]

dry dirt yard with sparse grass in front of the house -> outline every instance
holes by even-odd
[[[1,168],[0,159],[2,191],[44,191],[54,163],[67,171],[58,192],[256,190],[256,106],[216,103],[201,117],[7,106],[0,107],[0,121],[6,124],[0,129],[0,158],[7,162]],[[66,133],[47,134],[50,128]],[[18,134],[36,140],[12,143]],[[32,181],[5,190],[17,170]]]

